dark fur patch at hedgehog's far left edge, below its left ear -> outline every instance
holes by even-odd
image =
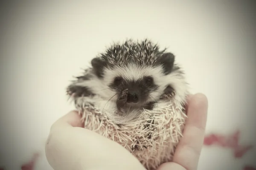
[[[92,91],[89,88],[83,86],[73,86],[70,85],[67,88],[67,93],[69,95],[74,95],[74,97],[81,97],[81,96],[94,96]]]

